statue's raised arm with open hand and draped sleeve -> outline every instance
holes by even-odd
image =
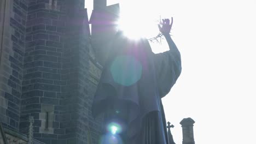
[[[170,92],[171,87],[181,74],[181,54],[170,35],[172,23],[173,18],[171,18],[171,23],[169,19],[162,19],[162,22],[158,25],[159,31],[164,35],[170,49],[169,51],[154,55],[161,98]]]

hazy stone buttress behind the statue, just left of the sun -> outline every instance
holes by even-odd
[[[119,19],[119,4],[100,7],[92,11],[91,24],[91,44],[95,51],[97,61],[103,65],[109,52],[107,44],[117,33],[117,21]]]

